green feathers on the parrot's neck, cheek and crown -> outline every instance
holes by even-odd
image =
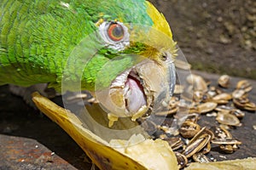
[[[81,79],[83,88],[92,89],[97,71],[122,53],[93,33],[99,20],[153,24],[144,0],[2,0],[0,84],[49,82],[60,90],[64,78],[71,84]]]

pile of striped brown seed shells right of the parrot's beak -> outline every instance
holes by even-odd
[[[197,75],[187,77],[187,82],[188,87],[177,84],[169,111],[156,114],[172,117],[172,122],[175,122],[181,119],[176,117],[176,113],[187,107],[189,114],[185,115],[185,121],[176,133],[173,134],[171,123],[168,122],[157,125],[146,120],[147,123],[143,125],[148,133],[156,130],[152,138],[166,140],[171,145],[180,168],[186,167],[191,161],[214,161],[206,156],[212,144],[229,154],[239,149],[241,142],[232,137],[229,129],[241,126],[244,111],[256,111],[256,105],[248,99],[253,87],[247,80],[237,82],[232,93],[224,92],[224,88],[230,88],[230,77],[227,75],[218,78],[218,86],[212,86],[211,82]],[[201,127],[198,124],[201,115],[215,116],[218,127]]]

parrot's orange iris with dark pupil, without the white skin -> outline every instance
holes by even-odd
[[[108,26],[108,37],[114,42],[119,42],[125,36],[123,26],[118,23],[113,23]]]

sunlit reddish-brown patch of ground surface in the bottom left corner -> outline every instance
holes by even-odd
[[[76,169],[35,139],[0,134],[0,169]]]

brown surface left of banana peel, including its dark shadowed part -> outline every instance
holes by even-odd
[[[61,127],[10,94],[8,86],[0,87],[0,157],[0,170],[91,167]]]

